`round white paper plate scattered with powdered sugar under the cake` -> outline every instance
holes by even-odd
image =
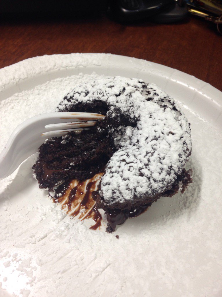
[[[28,59],[0,69],[0,149],[21,121],[53,110],[47,97],[59,94],[58,103],[80,72],[142,78],[176,99],[191,123],[194,182],[183,195],[159,199],[108,234],[70,219],[46,198],[32,178],[35,156],[30,157],[0,181],[0,296],[222,296],[222,93],[217,89],[178,70],[124,56]]]

